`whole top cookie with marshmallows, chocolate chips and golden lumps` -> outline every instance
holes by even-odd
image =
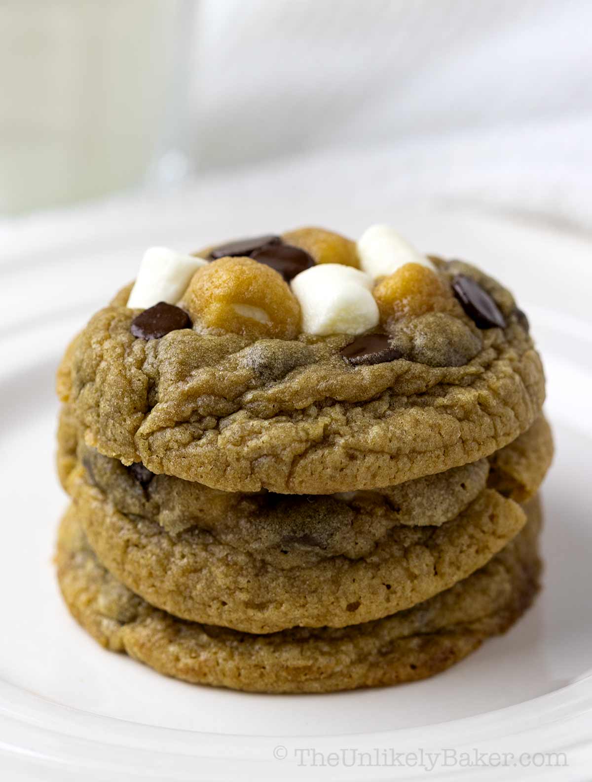
[[[537,417],[544,375],[526,316],[476,267],[384,226],[357,243],[305,228],[149,250],[66,351],[58,390],[124,464],[325,494],[492,454]]]

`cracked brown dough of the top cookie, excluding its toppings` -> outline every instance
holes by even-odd
[[[505,318],[505,328],[479,332],[480,350],[460,366],[421,363],[431,361],[426,337],[405,321],[394,339],[414,360],[362,366],[341,354],[347,335],[184,328],[135,339],[128,287],[66,351],[59,394],[105,456],[219,490],[374,489],[477,461],[532,425],[543,371],[511,294],[469,264],[437,264],[443,278],[478,282]],[[428,334],[448,322],[422,317]],[[479,331],[462,313],[455,322]]]

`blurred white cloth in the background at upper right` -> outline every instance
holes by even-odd
[[[388,175],[406,200],[592,229],[590,0],[201,0],[196,10],[198,171],[330,153],[352,188]]]

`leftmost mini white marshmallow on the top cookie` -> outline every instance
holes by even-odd
[[[145,310],[159,301],[176,304],[194,273],[208,262],[167,247],[151,247],[142,258],[127,306]]]

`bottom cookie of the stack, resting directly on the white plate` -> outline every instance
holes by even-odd
[[[447,669],[503,633],[533,601],[540,506],[487,565],[406,611],[339,629],[253,635],[177,619],[124,587],[98,561],[74,506],[59,529],[59,586],[72,615],[102,646],[192,683],[268,693],[380,687]]]

